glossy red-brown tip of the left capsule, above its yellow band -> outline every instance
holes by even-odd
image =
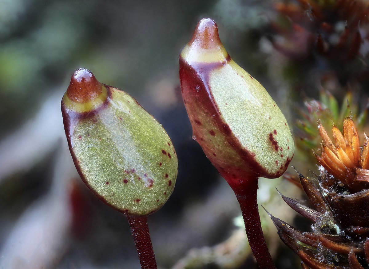
[[[76,70],[66,94],[69,99],[76,103],[86,103],[90,100],[96,99],[102,91],[102,85],[91,71],[80,68]]]

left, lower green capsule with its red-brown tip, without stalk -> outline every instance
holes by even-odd
[[[173,191],[178,161],[154,117],[86,69],[73,74],[62,114],[75,166],[97,197],[131,215],[161,208]]]

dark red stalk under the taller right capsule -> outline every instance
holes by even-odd
[[[249,244],[260,269],[276,269],[268,246],[266,245],[263,230],[261,229],[260,215],[257,202],[258,178],[248,181],[246,187],[234,188],[237,200],[244,217],[245,228]]]

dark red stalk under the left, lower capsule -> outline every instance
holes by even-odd
[[[127,215],[127,219],[132,230],[141,269],[157,269],[149,226],[147,225],[147,216]]]

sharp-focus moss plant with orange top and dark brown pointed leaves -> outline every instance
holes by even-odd
[[[363,144],[354,121],[346,117],[342,132],[332,123],[332,137],[318,122],[322,141],[320,175],[305,177],[301,185],[313,208],[283,200],[309,219],[312,232],[302,232],[272,216],[279,237],[301,258],[302,268],[364,269],[369,266],[369,139]],[[361,145],[363,147],[361,148]]]

